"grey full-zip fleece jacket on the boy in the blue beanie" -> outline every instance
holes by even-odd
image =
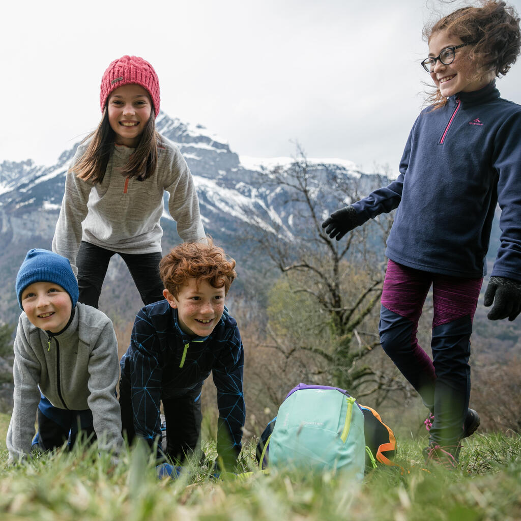
[[[112,322],[104,313],[78,303],[69,326],[49,337],[22,312],[14,351],[14,408],[7,431],[10,462],[31,449],[40,390],[55,407],[90,409],[101,449],[122,446],[121,412],[114,392],[118,347]]]

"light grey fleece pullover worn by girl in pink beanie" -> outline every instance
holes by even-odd
[[[101,183],[92,185],[78,179],[75,172],[67,172],[52,249],[69,259],[75,274],[82,240],[116,253],[161,252],[163,229],[159,219],[164,212],[165,191],[170,194],[168,210],[181,239],[199,241],[205,237],[188,165],[175,144],[163,136],[162,144],[157,168],[144,181],[123,177],[118,170],[135,150],[123,145],[114,146]],[[71,166],[88,145],[86,141],[78,147]]]

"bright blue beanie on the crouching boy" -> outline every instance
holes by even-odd
[[[72,308],[76,307],[80,292],[69,259],[40,248],[33,248],[27,252],[16,277],[16,294],[21,309],[22,292],[33,282],[58,284],[69,294]]]

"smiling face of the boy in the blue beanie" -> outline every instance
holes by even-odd
[[[34,282],[22,292],[22,307],[27,318],[44,331],[58,333],[69,321],[72,302],[58,284]]]

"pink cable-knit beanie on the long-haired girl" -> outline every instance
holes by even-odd
[[[103,112],[110,93],[128,83],[141,85],[148,91],[157,117],[159,114],[159,81],[152,65],[139,56],[122,56],[107,67],[100,86],[101,111]]]

